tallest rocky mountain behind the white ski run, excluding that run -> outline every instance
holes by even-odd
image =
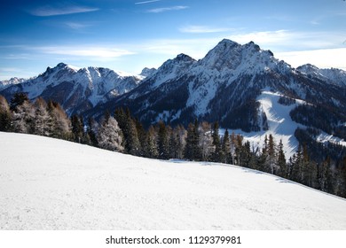
[[[187,55],[169,59],[115,103],[128,105],[147,124],[158,116],[170,123],[199,118],[219,120],[225,128],[256,131],[263,122],[256,114],[256,97],[263,89],[340,108],[346,106],[346,99],[339,88],[311,79],[255,43],[223,40],[199,61]]]

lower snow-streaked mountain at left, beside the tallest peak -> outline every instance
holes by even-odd
[[[26,92],[30,99],[51,99],[71,114],[122,95],[137,87],[144,78],[101,67],[77,68],[60,63],[54,68],[48,67],[34,79],[3,89],[0,94],[10,99],[15,92]]]

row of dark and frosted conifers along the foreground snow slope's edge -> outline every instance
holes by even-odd
[[[292,158],[286,158],[282,141],[265,136],[262,148],[243,136],[219,134],[218,123],[194,120],[187,128],[172,128],[164,122],[145,129],[129,109],[118,108],[103,118],[83,120],[67,117],[55,102],[17,93],[9,104],[0,96],[0,131],[51,136],[98,148],[151,159],[187,159],[248,167],[303,183],[314,189],[346,198],[346,157],[315,161],[307,143],[301,143]]]

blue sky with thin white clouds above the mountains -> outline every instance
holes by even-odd
[[[294,67],[346,69],[343,0],[3,0],[0,21],[0,80],[59,62],[138,74],[179,53],[203,58],[223,38]]]

